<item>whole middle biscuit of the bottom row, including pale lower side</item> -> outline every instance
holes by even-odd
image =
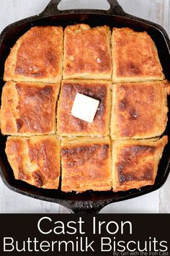
[[[105,191],[112,188],[109,137],[63,139],[61,142],[64,192]]]

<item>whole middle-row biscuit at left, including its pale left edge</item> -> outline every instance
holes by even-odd
[[[1,95],[3,135],[55,133],[55,107],[59,85],[6,82]]]

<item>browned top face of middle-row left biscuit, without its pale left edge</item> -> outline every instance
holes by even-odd
[[[19,95],[17,109],[20,113],[19,119],[16,119],[18,132],[23,129],[44,132],[53,127],[51,115],[54,111],[55,87],[44,85],[40,88],[17,83],[16,88]]]

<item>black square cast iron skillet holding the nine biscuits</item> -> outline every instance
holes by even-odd
[[[170,41],[166,31],[160,26],[147,20],[142,20],[138,17],[133,17],[126,14],[120,4],[116,0],[107,0],[110,4],[110,9],[107,11],[96,9],[76,9],[60,11],[58,4],[61,0],[52,0],[45,10],[33,17],[13,23],[6,27],[1,33],[0,38],[0,88],[3,87],[3,67],[4,61],[9,54],[10,48],[14,45],[16,40],[23,35],[30,27],[35,25],[71,25],[75,23],[87,23],[91,26],[109,25],[110,27],[132,27],[135,30],[146,30],[151,35],[158,48],[159,58],[164,67],[166,78],[170,80]],[[170,106],[170,104],[169,104]],[[169,118],[170,120],[170,118]],[[170,123],[170,121],[169,121]],[[169,130],[169,124],[166,128],[165,134]],[[60,190],[53,189],[38,189],[25,182],[14,179],[12,169],[6,159],[4,153],[6,137],[0,135],[0,165],[1,178],[9,189],[18,192],[22,195],[45,200],[49,202],[57,202],[71,211],[71,213],[98,213],[105,205],[111,202],[118,202],[127,200],[140,195],[145,195],[160,188],[169,175],[169,161],[170,161],[170,143],[166,145],[164,155],[158,167],[158,176],[156,183],[153,186],[143,187],[141,189],[131,189],[127,192],[84,192],[76,195],[76,193],[64,193]]]

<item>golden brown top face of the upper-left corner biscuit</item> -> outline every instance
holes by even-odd
[[[26,77],[56,77],[63,51],[62,27],[32,27],[22,36],[15,74]]]

